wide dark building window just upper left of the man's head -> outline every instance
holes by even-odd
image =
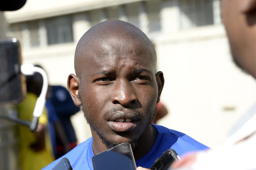
[[[46,19],[48,44],[73,42],[72,18],[60,16]]]

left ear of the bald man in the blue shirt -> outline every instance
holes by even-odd
[[[80,84],[79,78],[76,77],[74,74],[70,74],[68,77],[67,85],[68,85],[69,93],[76,106],[82,105],[81,100],[79,98],[79,84]]]

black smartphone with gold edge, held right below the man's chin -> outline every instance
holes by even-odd
[[[130,143],[122,143],[93,156],[94,170],[136,170]]]

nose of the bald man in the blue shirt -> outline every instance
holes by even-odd
[[[129,81],[116,82],[112,94],[112,103],[127,106],[135,104],[137,97],[135,95],[134,87]]]

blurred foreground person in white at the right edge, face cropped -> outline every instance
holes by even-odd
[[[234,63],[256,79],[256,0],[221,0],[222,20]],[[256,106],[234,128],[224,146],[191,153],[172,170],[255,170]],[[138,170],[146,170],[138,167]]]

